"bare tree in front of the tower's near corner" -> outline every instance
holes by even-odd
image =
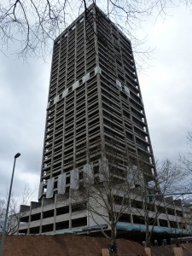
[[[117,223],[123,215],[128,216],[131,212],[134,177],[132,165],[124,155],[119,155],[117,148],[108,149],[106,156],[84,166],[83,183],[78,191],[71,191],[70,196],[74,205],[87,209],[88,226],[100,227],[115,251]],[[117,162],[121,163],[120,168]],[[106,226],[107,230],[103,228]]]

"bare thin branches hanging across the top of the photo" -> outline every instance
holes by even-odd
[[[98,4],[114,24],[123,30],[131,41],[136,40],[136,29],[149,15],[165,15],[168,7],[190,0],[11,0],[0,3],[1,50],[10,45],[15,53],[27,58],[30,55],[45,57],[49,54],[49,41],[55,39],[80,13],[89,13],[89,5]],[[137,41],[138,46],[138,41]],[[141,49],[139,50],[141,51]]]

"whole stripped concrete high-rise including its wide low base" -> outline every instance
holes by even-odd
[[[21,215],[19,232],[58,233],[93,226],[82,209],[71,205],[68,192],[82,185],[84,166],[89,169],[93,163],[94,175],[100,172],[108,148],[118,153],[113,156],[115,172],[122,170],[125,156],[135,168],[143,162],[146,180],[155,182],[154,155],[131,42],[91,5],[55,39],[38,202],[21,207],[21,212],[28,212]],[[133,186],[139,183],[137,180]],[[143,204],[137,201],[134,207]],[[175,211],[170,211],[172,224],[164,214],[157,225],[179,227]],[[144,224],[133,212],[127,223]]]

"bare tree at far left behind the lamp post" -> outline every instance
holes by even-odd
[[[30,189],[29,185],[26,184],[21,198],[18,198],[14,195],[14,193],[12,193],[9,204],[9,218],[6,228],[6,234],[13,235],[17,232],[18,226],[20,224],[20,218],[24,217],[23,214],[25,214],[25,212],[20,212],[20,204],[26,205],[27,203],[29,203],[32,199],[32,195],[34,194],[34,192],[35,190]],[[0,229],[2,231],[7,207],[7,198],[8,196],[0,201]]]

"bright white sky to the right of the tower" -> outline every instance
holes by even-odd
[[[172,9],[166,20],[147,26],[154,59],[140,76],[154,155],[177,160],[192,128],[192,14]]]

